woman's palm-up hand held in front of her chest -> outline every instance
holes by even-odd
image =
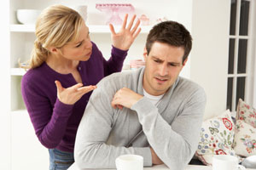
[[[91,90],[96,89],[96,86],[84,86],[82,83],[77,83],[70,88],[63,88],[61,82],[55,81],[57,87],[58,99],[67,105],[75,104],[84,94],[87,94]]]

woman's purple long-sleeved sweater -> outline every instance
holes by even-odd
[[[78,66],[84,86],[96,85],[103,77],[121,71],[127,55],[127,51],[113,47],[111,58],[106,61],[96,44],[92,44],[90,59],[80,61]],[[60,81],[63,88],[77,83],[71,73],[60,74],[44,62],[22,77],[21,94],[41,144],[46,148],[73,152],[79,122],[91,92],[84,94],[74,105],[66,105],[57,99],[55,80]]]

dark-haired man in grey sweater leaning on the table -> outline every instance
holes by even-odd
[[[80,168],[113,168],[120,155],[143,156],[144,167],[183,169],[195,153],[206,105],[204,90],[178,77],[192,38],[181,24],[162,22],[149,32],[145,67],[99,82],[79,124]]]

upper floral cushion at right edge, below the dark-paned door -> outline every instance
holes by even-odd
[[[236,111],[236,120],[247,122],[256,128],[256,110],[247,105],[242,99],[239,99]]]

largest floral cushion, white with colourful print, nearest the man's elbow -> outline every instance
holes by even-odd
[[[206,165],[212,164],[214,155],[235,156],[235,150],[232,148],[234,134],[235,124],[232,121],[230,110],[204,121],[195,156],[198,156],[199,160]]]

